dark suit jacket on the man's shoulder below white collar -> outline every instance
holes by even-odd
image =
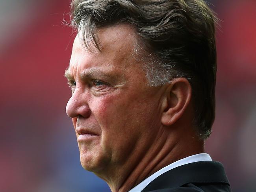
[[[141,192],[230,192],[224,167],[217,161],[185,164],[165,172]]]

